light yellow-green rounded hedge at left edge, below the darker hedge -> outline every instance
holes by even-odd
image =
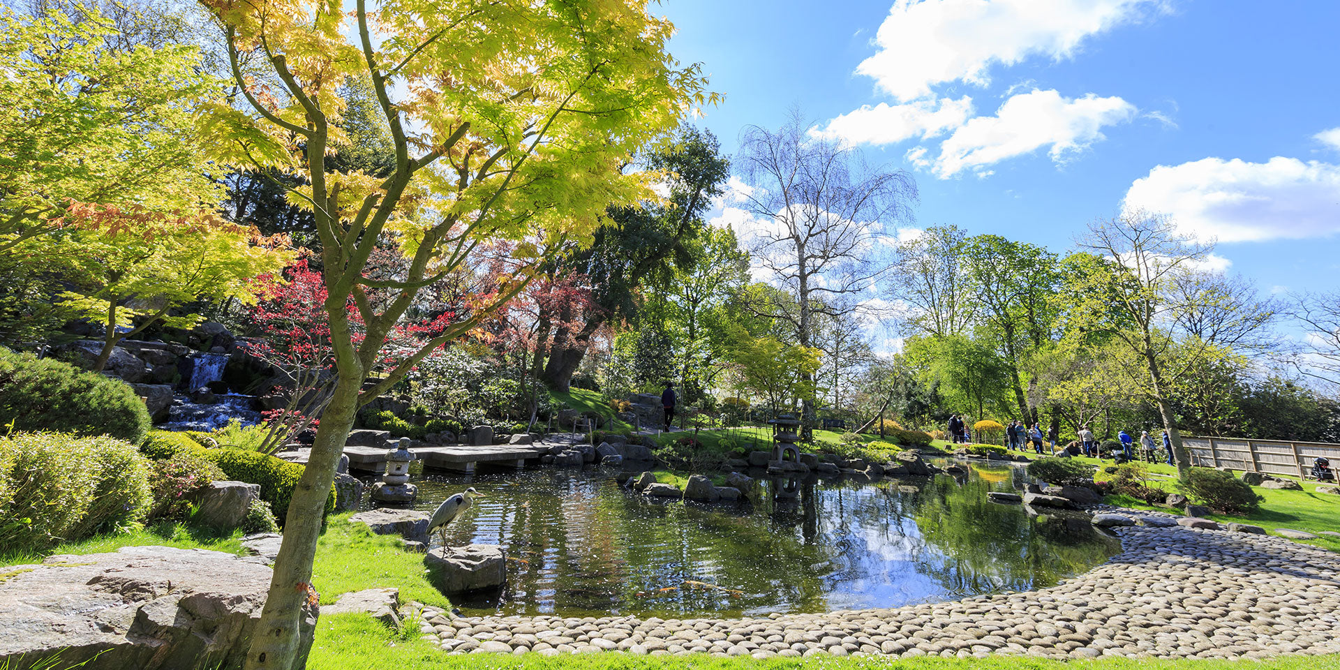
[[[138,402],[138,399],[137,399]],[[0,437],[0,551],[42,551],[149,513],[149,460],[106,436]]]

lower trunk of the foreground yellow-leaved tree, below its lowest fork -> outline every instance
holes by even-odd
[[[300,616],[312,582],[312,560],[320,536],[326,498],[354,427],[360,374],[342,374],[330,405],[322,413],[311,458],[293,488],[284,517],[284,540],[275,559],[275,575],[265,596],[256,635],[247,653],[247,670],[289,670],[297,653]]]

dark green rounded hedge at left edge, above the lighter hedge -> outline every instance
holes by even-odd
[[[138,445],[149,410],[130,385],[70,363],[0,347],[0,426],[20,433],[111,436]]]

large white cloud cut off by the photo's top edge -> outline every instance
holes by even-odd
[[[1080,43],[1164,0],[896,0],[856,72],[899,100],[931,86],[989,82],[992,64],[1069,58]]]

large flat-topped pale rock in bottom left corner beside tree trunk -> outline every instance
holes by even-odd
[[[205,549],[125,547],[51,556],[5,568],[0,582],[0,665],[173,670],[241,667],[257,634],[271,570],[253,557]],[[297,659],[306,663],[316,607],[303,604]]]

